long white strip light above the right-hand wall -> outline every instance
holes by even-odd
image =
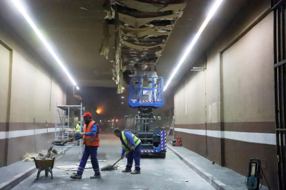
[[[209,23],[209,20],[211,20],[211,17],[213,17],[213,14],[216,12],[216,10],[220,6],[221,2],[222,2],[222,0],[216,0],[216,3],[213,5],[213,7],[211,8],[211,11],[207,15],[207,19],[205,19],[204,23],[202,23],[202,25],[200,26],[200,30],[198,30],[198,33],[196,34],[195,38],[193,39],[193,41],[191,41],[191,44],[187,48],[186,52],[184,52],[184,55],[182,56],[182,59],[178,63],[177,67],[175,67],[175,70],[173,70],[173,73],[171,74],[171,77],[169,78],[169,81],[166,83],[166,85],[165,85],[163,90],[166,90],[166,88],[171,83],[171,81],[172,81],[173,77],[175,76],[176,72],[178,72],[180,66],[184,62],[184,59],[186,59],[186,57],[189,54],[189,52],[191,52],[191,49],[193,48],[193,45],[195,45],[196,41],[198,41],[198,38],[200,37],[200,34],[202,34],[202,31],[204,30],[204,28],[206,28],[207,23]]]

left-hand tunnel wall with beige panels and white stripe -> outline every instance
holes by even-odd
[[[0,167],[49,147],[55,104],[66,89],[48,65],[0,18]],[[3,90],[2,90],[3,89]]]

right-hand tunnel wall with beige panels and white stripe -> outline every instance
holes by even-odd
[[[175,89],[175,136],[187,149],[243,176],[262,162],[277,189],[273,14],[245,8]],[[187,97],[187,98],[186,98]],[[186,109],[187,107],[187,109]]]

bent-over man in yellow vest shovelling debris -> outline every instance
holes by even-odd
[[[135,170],[131,172],[131,174],[139,174],[140,173],[140,155],[141,155],[141,140],[137,138],[130,131],[121,131],[120,129],[114,129],[113,134],[119,137],[122,142],[122,154],[121,159],[124,158],[124,153],[127,154],[127,165],[126,169],[122,170],[122,172],[131,172],[133,159],[135,161]]]

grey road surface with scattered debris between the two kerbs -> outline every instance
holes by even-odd
[[[102,134],[98,149],[98,160],[107,160],[99,162],[99,167],[113,164],[120,158],[121,144],[120,139],[113,134]],[[154,158],[145,156],[141,158],[141,174],[132,175],[122,173],[125,168],[126,158],[119,162],[120,168],[115,171],[102,171],[101,179],[91,180],[93,169],[85,169],[82,180],[70,179],[71,173],[75,171],[61,171],[54,168],[53,180],[44,176],[44,171],[36,180],[34,173],[26,180],[18,184],[14,190],[22,189],[194,189],[208,190],[213,189],[209,183],[202,179],[198,174],[184,164],[175,154],[167,150],[166,158]],[[73,148],[55,163],[55,167],[79,164],[79,149]],[[90,164],[88,162],[87,164]],[[133,163],[134,169],[134,163]]]

